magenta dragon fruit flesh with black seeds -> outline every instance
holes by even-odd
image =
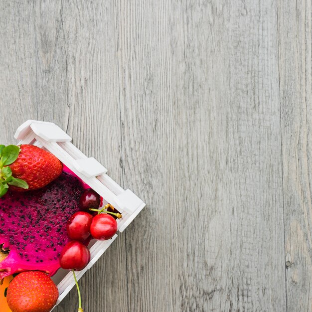
[[[69,241],[66,222],[79,211],[83,190],[77,177],[62,172],[39,190],[8,191],[0,198],[0,281],[26,270],[56,273]]]

